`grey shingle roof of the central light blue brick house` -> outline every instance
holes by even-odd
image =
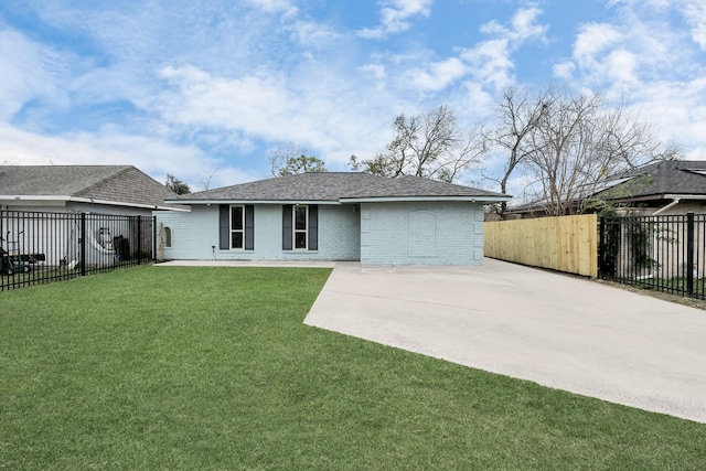
[[[217,202],[341,202],[381,200],[475,200],[506,201],[510,196],[469,186],[422,179],[399,176],[387,179],[360,172],[320,172],[260,180],[183,195],[172,202],[206,204]]]

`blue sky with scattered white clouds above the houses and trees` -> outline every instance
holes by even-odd
[[[553,83],[706,160],[703,0],[6,1],[0,68],[0,163],[194,191],[267,178],[291,146],[344,171],[400,113],[447,104],[470,129],[505,87]]]

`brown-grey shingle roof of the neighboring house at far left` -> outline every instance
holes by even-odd
[[[176,196],[132,165],[0,165],[0,200],[173,210],[164,201]]]

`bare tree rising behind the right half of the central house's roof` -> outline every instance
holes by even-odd
[[[410,118],[399,115],[393,128],[395,138],[384,152],[361,162],[351,156],[351,168],[389,178],[416,175],[450,182],[485,153],[478,131],[466,139],[446,105]]]

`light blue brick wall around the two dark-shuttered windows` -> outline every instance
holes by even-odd
[[[218,248],[218,205],[192,205],[191,213],[156,213],[158,231],[169,227],[172,246],[158,258],[217,260],[359,260],[360,217],[354,205],[319,205],[319,249],[282,250],[282,206],[255,205],[255,249]],[[164,242],[162,234],[162,243]],[[215,248],[214,248],[215,247]]]

